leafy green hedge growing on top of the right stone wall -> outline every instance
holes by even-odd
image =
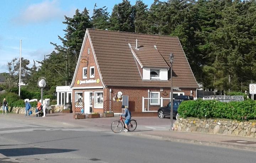
[[[256,118],[256,101],[219,102],[215,100],[183,101],[178,107],[181,117],[227,118],[250,120]]]

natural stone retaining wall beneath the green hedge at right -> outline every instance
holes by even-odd
[[[174,130],[256,138],[255,122],[239,122],[237,120],[180,118],[176,120]]]

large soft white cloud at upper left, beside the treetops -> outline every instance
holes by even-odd
[[[32,4],[25,10],[21,11],[20,16],[14,18],[14,21],[19,24],[28,24],[35,22],[48,22],[54,19],[63,19],[65,15],[57,0],[44,1],[39,4]]]

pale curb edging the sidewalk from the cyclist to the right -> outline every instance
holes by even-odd
[[[155,135],[148,135],[148,134],[141,134],[141,133],[128,133],[131,136],[139,136],[148,139],[155,139],[155,140],[164,140],[164,141],[173,141],[173,142],[182,142],[188,144],[196,144],[196,145],[206,145],[206,146],[213,146],[213,147],[223,147],[223,148],[231,148],[236,150],[247,150],[247,151],[255,151],[256,148],[254,147],[245,147],[240,145],[230,145],[230,144],[222,144],[219,142],[207,142],[207,141],[198,141],[198,140],[189,140],[189,139],[178,139],[173,137],[163,137],[163,136],[155,136]],[[126,134],[124,134],[126,135]]]

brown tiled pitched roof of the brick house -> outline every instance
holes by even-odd
[[[133,50],[144,67],[168,68],[169,55],[174,54],[173,86],[199,88],[177,37],[97,29],[87,32],[105,86],[170,87],[170,80],[143,80]],[[135,49],[136,39],[139,50]]]

